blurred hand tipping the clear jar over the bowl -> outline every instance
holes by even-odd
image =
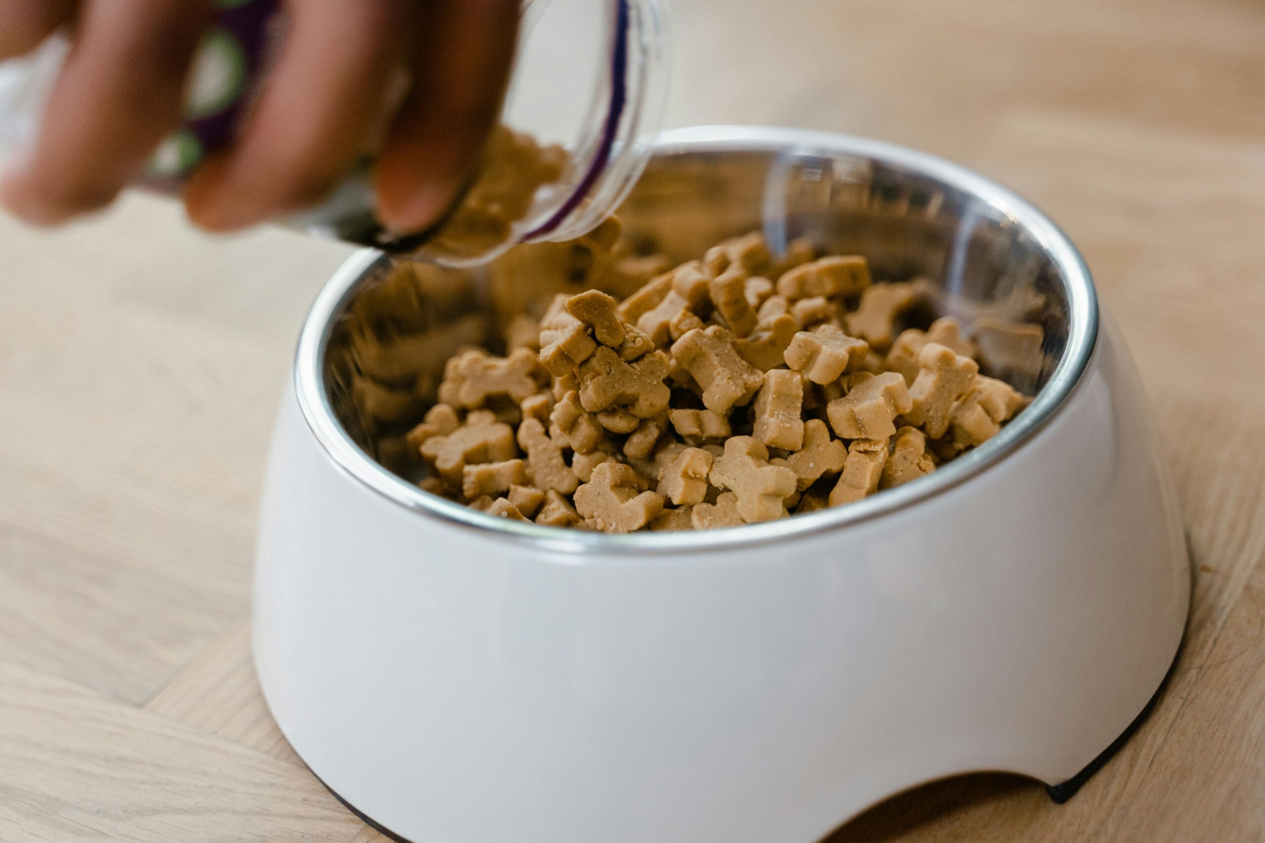
[[[185,191],[190,217],[228,231],[320,200],[369,149],[378,216],[433,222],[469,174],[501,106],[519,0],[287,0],[288,30],[235,143]],[[0,0],[0,59],[61,27],[73,47],[39,136],[0,182],[35,224],[97,210],[180,124],[210,0]]]

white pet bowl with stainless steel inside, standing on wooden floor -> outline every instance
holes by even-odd
[[[934,278],[968,318],[1009,303],[1045,340],[1001,374],[1036,399],[927,478],[811,516],[497,519],[381,468],[335,409],[326,351],[381,270],[359,253],[304,327],[259,526],[256,662],[293,748],[414,843],[811,843],[983,770],[1065,798],[1161,685],[1189,591],[1075,248],[960,167],[781,129],[668,134],[622,216],[673,257],[763,227]]]

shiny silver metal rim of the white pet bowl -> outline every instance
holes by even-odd
[[[1034,402],[1001,434],[936,469],[932,474],[842,507],[764,523],[708,531],[607,535],[543,527],[486,514],[423,492],[367,455],[334,416],[325,389],[324,358],[334,324],[366,272],[382,253],[362,249],[330,277],[304,322],[295,358],[299,406],[316,441],[345,474],[387,500],[439,522],[481,531],[516,543],[560,554],[560,561],[589,561],[584,555],[659,555],[716,551],[726,547],[784,541],[841,530],[915,507],[1013,454],[1050,422],[1068,401],[1089,365],[1098,336],[1098,302],[1089,268],[1068,236],[1036,207],[1009,190],[965,167],[893,144],[822,131],[765,126],[697,126],[664,131],[655,155],[678,152],[783,152],[846,154],[934,178],[988,203],[1023,230],[1051,258],[1068,291],[1069,332],[1063,359]]]

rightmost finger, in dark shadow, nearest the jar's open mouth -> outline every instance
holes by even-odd
[[[419,231],[448,209],[497,115],[514,64],[519,0],[430,0],[414,87],[377,164],[378,216]]]

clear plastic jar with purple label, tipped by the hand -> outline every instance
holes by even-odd
[[[202,157],[233,136],[285,29],[277,0],[218,6],[195,59],[183,125],[140,182],[149,190],[176,195]],[[444,219],[421,233],[385,230],[373,214],[367,158],[324,202],[282,222],[455,267],[519,243],[581,236],[620,205],[650,155],[667,87],[664,38],[662,0],[524,0],[501,126]],[[30,142],[65,54],[58,35],[0,63],[0,150]],[[540,164],[541,183],[522,161]],[[526,185],[517,195],[506,186],[514,179]]]

